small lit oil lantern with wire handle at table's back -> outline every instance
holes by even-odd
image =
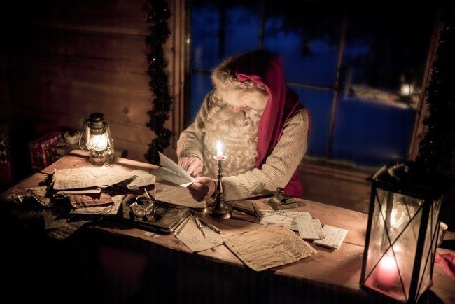
[[[83,139],[84,136],[85,139]],[[83,150],[90,151],[88,160],[93,165],[103,165],[113,161],[113,139],[109,125],[104,121],[103,113],[92,113],[85,120],[79,146]]]

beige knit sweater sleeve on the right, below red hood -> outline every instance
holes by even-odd
[[[223,177],[225,200],[242,200],[284,188],[307,151],[308,116],[300,111],[290,118],[272,153],[260,169]]]

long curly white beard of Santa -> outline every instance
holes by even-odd
[[[204,170],[202,174],[216,178],[216,141],[221,141],[224,162],[223,176],[229,177],[253,170],[258,155],[258,125],[262,113],[250,109],[232,111],[221,99],[212,99],[203,130]]]

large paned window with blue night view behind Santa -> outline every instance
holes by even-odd
[[[265,48],[311,116],[308,158],[377,167],[407,158],[435,8],[192,1],[190,123],[225,57]]]

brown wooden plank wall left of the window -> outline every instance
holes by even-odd
[[[100,111],[116,149],[144,161],[154,137],[146,127],[152,94],[145,1],[37,2],[1,14],[8,14],[8,48],[0,57],[2,70],[8,69],[8,90],[3,78],[0,84],[13,116],[26,120],[37,137],[59,127],[81,128],[83,118]],[[172,57],[169,40],[165,52]],[[168,124],[172,127],[172,118]]]

